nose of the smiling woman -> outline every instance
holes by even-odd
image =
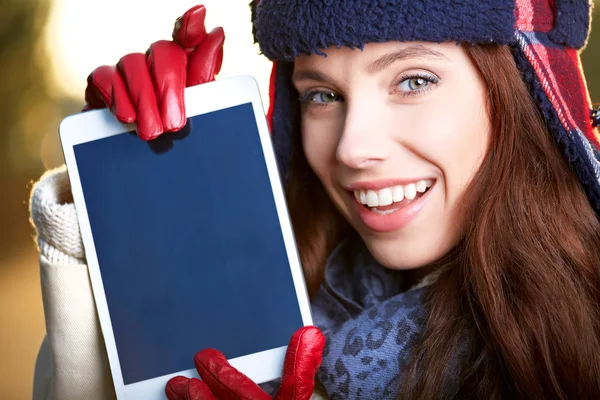
[[[386,119],[373,105],[348,105],[344,130],[338,143],[337,160],[352,169],[366,169],[385,160],[391,146],[386,143]]]

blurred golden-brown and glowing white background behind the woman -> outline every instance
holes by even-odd
[[[236,2],[235,7],[232,6]],[[170,39],[173,22],[200,0],[0,0],[0,398],[31,398],[45,327],[37,250],[29,223],[33,182],[63,164],[58,124],[84,105],[90,71]],[[249,74],[268,93],[270,63],[251,36],[248,0],[204,0],[207,26],[225,28],[220,78]],[[600,1],[583,53],[600,103]],[[156,4],[156,3],[155,3]]]

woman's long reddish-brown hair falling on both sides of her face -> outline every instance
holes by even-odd
[[[600,399],[600,223],[510,48],[463,48],[486,82],[493,132],[400,397]],[[301,151],[288,188],[314,290],[346,225]]]

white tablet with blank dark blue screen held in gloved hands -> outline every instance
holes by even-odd
[[[256,82],[185,96],[186,128],[151,142],[107,110],[60,125],[119,399],[165,399],[204,348],[270,381],[312,324]]]

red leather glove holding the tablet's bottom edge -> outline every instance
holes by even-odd
[[[314,326],[305,326],[294,333],[285,355],[281,386],[275,400],[310,399],[324,347],[325,337]],[[202,380],[183,376],[170,379],[165,388],[169,400],[271,400],[217,350],[200,351],[194,362]]]

